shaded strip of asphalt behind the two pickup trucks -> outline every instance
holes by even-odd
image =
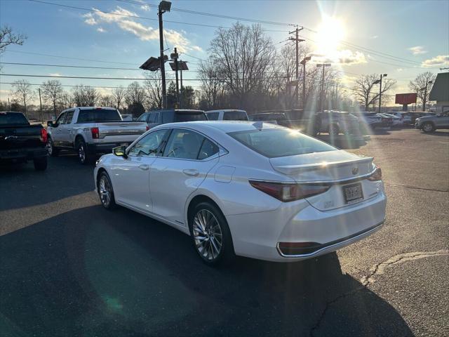
[[[62,152],[59,157],[48,157],[46,171],[35,171],[32,161],[27,164],[2,163],[0,211],[47,204],[92,191],[95,188],[94,167],[79,164],[76,154],[70,152]],[[13,194],[3,192],[13,190]]]

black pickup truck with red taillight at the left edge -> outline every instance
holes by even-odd
[[[32,160],[34,169],[47,168],[47,131],[31,125],[22,112],[0,112],[0,162]]]

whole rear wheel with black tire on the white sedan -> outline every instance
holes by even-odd
[[[201,202],[189,215],[190,237],[196,253],[210,266],[225,265],[235,258],[231,231],[220,209]]]

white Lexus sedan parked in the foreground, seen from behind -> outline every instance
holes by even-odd
[[[163,124],[95,167],[102,205],[189,234],[208,265],[289,262],[378,230],[387,198],[373,158],[260,121]]]

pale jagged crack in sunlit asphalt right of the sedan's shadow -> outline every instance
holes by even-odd
[[[440,249],[439,251],[415,251],[412,253],[402,253],[392,256],[388,260],[376,263],[373,267],[370,267],[370,274],[361,278],[361,283],[363,286],[369,286],[375,282],[376,275],[382,275],[385,268],[390,265],[397,265],[399,263],[404,263],[410,260],[419,260],[420,258],[429,258],[431,256],[444,256],[449,255],[449,250]]]

